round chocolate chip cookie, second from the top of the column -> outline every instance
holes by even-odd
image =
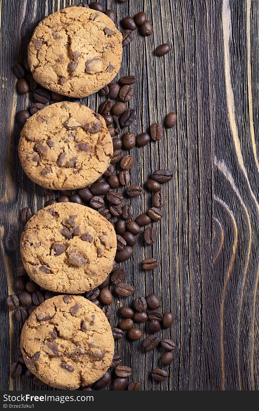
[[[83,188],[96,181],[112,154],[112,138],[103,117],[71,102],[51,104],[32,115],[19,141],[25,173],[42,187],[55,190]]]

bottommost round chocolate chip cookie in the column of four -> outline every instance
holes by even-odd
[[[44,383],[76,390],[100,379],[112,363],[114,339],[100,308],[81,296],[56,296],[37,307],[23,326],[26,366]]]

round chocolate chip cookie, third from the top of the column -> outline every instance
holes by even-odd
[[[30,218],[21,236],[21,259],[40,286],[81,294],[112,271],[117,240],[112,224],[76,203],[56,203]]]

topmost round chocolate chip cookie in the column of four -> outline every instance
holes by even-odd
[[[34,79],[59,94],[85,97],[119,71],[122,35],[104,13],[68,7],[44,18],[33,32],[28,62]]]

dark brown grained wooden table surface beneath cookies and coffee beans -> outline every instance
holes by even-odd
[[[163,185],[166,204],[158,240],[144,245],[124,266],[135,296],[158,293],[175,322],[163,337],[177,343],[170,378],[150,378],[161,351],[143,353],[139,342],[119,340],[117,352],[132,367],[142,390],[257,390],[259,388],[259,8],[255,0],[101,1],[117,21],[144,10],[154,34],[124,48],[120,76],[135,74],[131,106],[138,118],[131,130],[149,130],[177,113],[177,125],[163,139],[133,150],[131,181],[141,183],[156,169],[170,169]],[[66,2],[68,4],[68,2]],[[24,377],[9,379],[17,358],[17,324],[5,296],[14,292],[23,230],[20,212],[44,206],[41,187],[22,172],[16,111],[29,96],[17,95],[12,67],[26,55],[35,25],[64,2],[1,2],[1,362],[3,389],[33,387]],[[155,57],[168,42],[171,51]],[[100,97],[84,104],[97,110]],[[151,203],[149,192],[132,200],[135,216]],[[141,261],[155,256],[159,267],[143,272]],[[124,303],[114,299],[114,310]],[[126,300],[131,302],[131,298]],[[117,316],[111,320],[117,324]],[[144,329],[144,328],[143,328]],[[37,389],[37,388],[36,388]],[[41,388],[40,388],[41,389]]]

